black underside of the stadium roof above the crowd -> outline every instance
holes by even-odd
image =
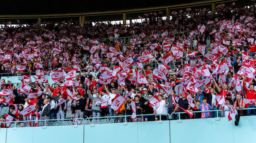
[[[225,2],[231,0],[1,0],[0,15],[35,15],[122,11],[207,1]]]

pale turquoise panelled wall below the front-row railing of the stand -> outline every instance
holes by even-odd
[[[238,126],[228,118],[210,118],[2,128],[0,143],[256,143],[255,121],[256,116],[242,116]]]

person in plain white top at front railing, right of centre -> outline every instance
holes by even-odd
[[[160,114],[160,113],[167,113],[167,108],[168,108],[168,101],[166,98],[164,98],[163,100],[163,94],[160,93],[158,95],[158,98],[159,98],[159,107],[156,108],[156,113],[157,114]],[[158,120],[159,120],[159,116],[158,116]],[[167,116],[166,115],[161,115],[161,120],[167,120]]]

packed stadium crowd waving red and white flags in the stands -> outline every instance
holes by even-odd
[[[228,119],[256,115],[236,110],[256,103],[255,5],[208,11],[172,11],[166,20],[146,13],[148,19],[130,26],[85,22],[81,28],[68,21],[2,27],[1,76],[20,76],[22,83],[1,79],[0,105],[9,107],[1,121],[121,115],[155,121],[159,115],[136,115],[173,113],[177,119],[174,113],[184,111],[180,119],[210,118],[217,112],[191,111],[217,109],[234,111],[221,112]],[[132,38],[125,43],[124,36]],[[35,82],[28,72],[36,73]]]

